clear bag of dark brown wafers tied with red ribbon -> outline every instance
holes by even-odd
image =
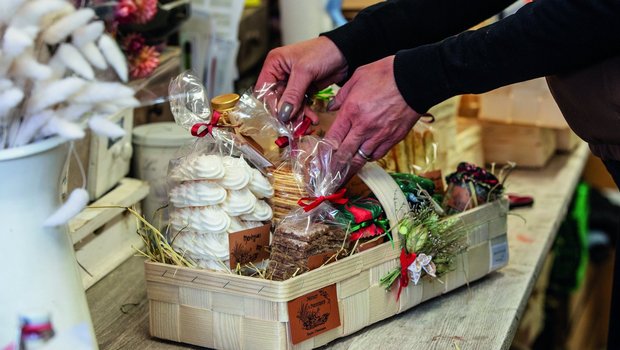
[[[286,280],[334,261],[346,249],[337,204],[348,201],[343,185],[348,164],[335,164],[334,148],[305,136],[291,149],[291,162],[274,171],[274,210],[293,209],[275,225],[266,276]],[[296,192],[303,186],[304,192]],[[282,192],[287,201],[280,200]],[[297,197],[297,198],[295,198]]]

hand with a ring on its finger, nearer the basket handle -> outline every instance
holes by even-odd
[[[330,106],[338,112],[325,138],[337,148],[336,161],[350,164],[349,177],[385,156],[420,119],[398,91],[393,67],[389,56],[358,68]]]

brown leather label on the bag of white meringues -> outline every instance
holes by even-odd
[[[269,258],[269,230],[271,223],[228,235],[230,268],[263,261]]]

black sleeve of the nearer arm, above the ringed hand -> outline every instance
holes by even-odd
[[[538,0],[476,31],[399,51],[394,75],[422,113],[451,96],[555,75],[620,54],[620,0]]]

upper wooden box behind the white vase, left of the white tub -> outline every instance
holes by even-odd
[[[125,129],[125,136],[111,140],[97,136],[90,130],[86,136],[75,141],[75,149],[86,172],[86,190],[91,201],[111,190],[129,173],[133,149],[131,130],[133,128],[133,109],[127,108],[108,117]],[[82,187],[82,175],[74,157],[69,160],[66,179],[66,193]]]

